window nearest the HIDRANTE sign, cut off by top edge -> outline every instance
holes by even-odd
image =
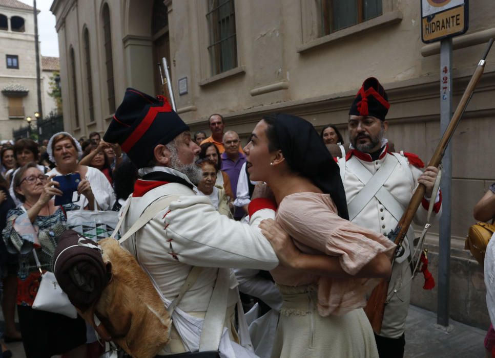
[[[360,24],[382,14],[382,0],[318,0],[320,36]]]

